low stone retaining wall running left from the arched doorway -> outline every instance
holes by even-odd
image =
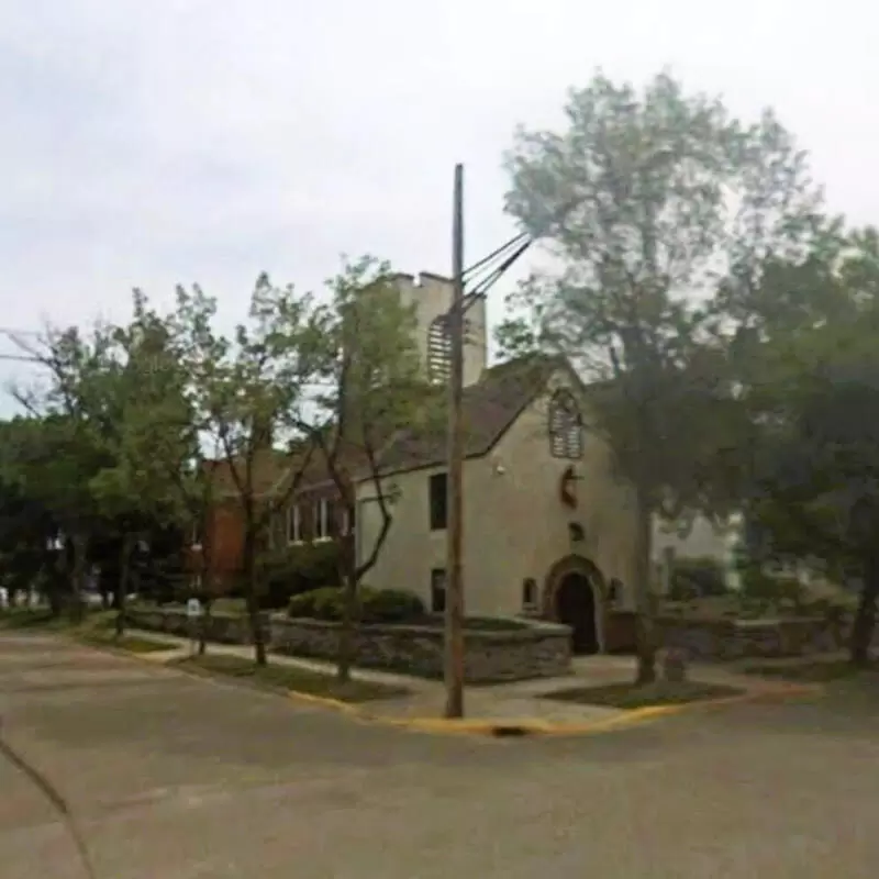
[[[186,612],[164,608],[131,608],[132,626],[188,635]],[[264,615],[267,642],[276,653],[334,659],[338,625],[319,620]],[[208,639],[247,644],[247,621],[218,614],[208,621]],[[443,675],[443,630],[419,625],[365,625],[357,632],[357,665],[418,677]],[[570,671],[570,628],[556,623],[522,621],[521,628],[465,631],[465,679],[468,683],[527,680]]]

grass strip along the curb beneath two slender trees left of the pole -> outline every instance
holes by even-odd
[[[296,666],[269,664],[257,666],[252,659],[230,654],[211,654],[204,656],[187,656],[171,665],[202,675],[219,675],[242,682],[252,683],[271,690],[296,690],[310,696],[338,699],[343,702],[368,702],[372,699],[390,699],[405,696],[402,687],[390,687],[374,681],[352,680],[338,685],[330,675],[310,671]]]

